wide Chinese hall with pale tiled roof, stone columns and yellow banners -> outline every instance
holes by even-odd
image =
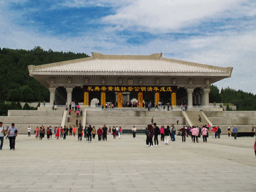
[[[83,102],[94,98],[115,103],[134,100],[139,107],[158,105],[209,105],[209,85],[230,78],[233,68],[221,68],[152,55],[103,55],[46,65],[29,65],[29,74],[50,92],[50,104]]]

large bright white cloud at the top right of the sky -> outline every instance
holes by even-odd
[[[207,18],[240,14],[255,14],[255,9],[242,6],[245,0],[138,0],[122,6],[117,14],[102,21],[123,28],[136,26],[151,33],[169,33],[180,28],[195,26]],[[235,14],[234,14],[235,10]],[[221,13],[221,14],[220,14]]]

